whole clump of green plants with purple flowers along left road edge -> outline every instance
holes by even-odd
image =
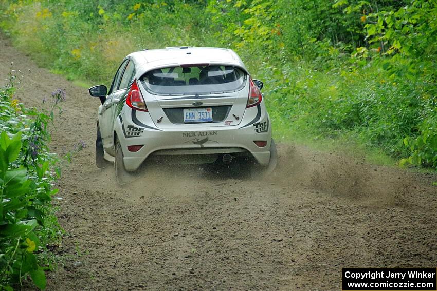
[[[48,151],[47,127],[65,92],[53,92],[49,109],[28,109],[13,99],[14,79],[0,88],[0,287],[30,276],[45,289],[44,270],[53,267],[46,246],[62,233],[51,205],[58,158]]]

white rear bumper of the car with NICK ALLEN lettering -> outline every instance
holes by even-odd
[[[153,127],[146,118],[134,121],[126,114],[120,115],[115,125],[123,151],[124,167],[136,170],[145,159],[153,155],[223,154],[248,152],[260,165],[270,161],[271,128],[268,114],[263,110],[259,120],[237,126],[207,126],[202,130],[184,130],[181,127],[163,130]],[[148,126],[148,124],[150,126]],[[263,125],[260,130],[260,125]],[[147,127],[146,127],[147,126]],[[258,131],[258,132],[257,132]],[[258,147],[253,141],[267,141]],[[128,150],[130,145],[143,145],[137,152]]]

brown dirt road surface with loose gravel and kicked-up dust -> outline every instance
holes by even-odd
[[[0,56],[27,106],[66,89],[52,150],[88,145],[58,184],[66,235],[47,290],[340,290],[343,267],[437,266],[434,174],[280,144],[269,179],[162,166],[120,188],[94,163],[99,100],[4,36]]]

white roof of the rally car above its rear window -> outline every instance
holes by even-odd
[[[240,57],[231,49],[209,47],[167,47],[129,54],[137,65],[137,76],[147,71],[187,64],[220,64],[236,66],[248,73]]]

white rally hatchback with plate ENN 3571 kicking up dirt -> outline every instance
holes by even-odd
[[[259,174],[276,166],[260,89],[230,49],[169,47],[126,56],[99,97],[97,166],[115,164],[120,184],[146,159],[239,163]]]

